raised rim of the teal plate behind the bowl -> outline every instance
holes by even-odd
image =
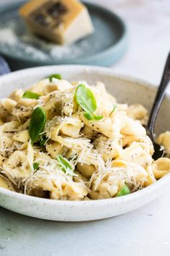
[[[6,52],[6,51],[0,51],[1,54],[3,54],[3,56],[12,59],[14,61],[23,61],[23,62],[27,62],[27,64],[32,64],[32,65],[56,65],[56,64],[71,64],[72,62],[74,62],[75,64],[86,64],[89,61],[95,61],[96,63],[99,60],[104,60],[106,58],[110,59],[110,56],[114,56],[114,54],[117,54],[118,52],[120,53],[120,58],[121,56],[125,53],[125,51],[127,50],[127,45],[128,45],[128,33],[127,33],[127,27],[125,25],[125,22],[122,20],[122,18],[115,14],[115,12],[112,12],[111,10],[102,7],[98,4],[94,4],[90,1],[82,1],[84,2],[84,4],[86,4],[87,7],[92,7],[92,8],[97,8],[99,9],[101,12],[106,12],[108,15],[112,16],[115,20],[117,20],[117,22],[119,22],[120,27],[122,27],[122,33],[120,35],[120,38],[117,40],[116,43],[114,43],[113,46],[109,46],[106,50],[101,51],[100,53],[94,54],[92,56],[89,57],[83,57],[83,59],[78,58],[78,61],[76,59],[58,59],[56,61],[42,61],[42,60],[35,60],[35,59],[29,59],[29,57],[21,57],[21,56],[11,56],[10,53]],[[12,9],[12,7],[16,7],[18,4],[23,4],[23,1],[17,1],[17,3],[11,3],[11,4],[3,4],[0,10],[0,14],[1,12],[4,12],[7,8]]]

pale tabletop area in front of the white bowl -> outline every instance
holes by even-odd
[[[170,187],[148,205],[101,221],[63,223],[0,208],[1,256],[169,256]]]

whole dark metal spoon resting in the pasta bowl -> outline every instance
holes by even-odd
[[[169,80],[170,80],[170,52],[169,52],[168,58],[166,59],[166,64],[164,67],[164,72],[162,74],[161,83],[158,87],[156,98],[153,103],[151,114],[148,120],[148,125],[146,128],[147,135],[151,138],[153,142],[153,147],[155,152],[153,153],[152,157],[154,160],[161,158],[164,155],[164,149],[162,149],[162,147],[155,142],[154,126],[155,126],[156,117],[158,115],[159,108],[161,107],[161,103],[164,100],[165,91],[166,91],[167,85],[169,84]]]

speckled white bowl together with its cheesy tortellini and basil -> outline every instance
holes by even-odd
[[[36,67],[0,77],[1,207],[91,221],[161,195],[170,182],[170,97],[156,121],[166,155],[153,161],[145,126],[155,94],[153,85],[102,67]]]

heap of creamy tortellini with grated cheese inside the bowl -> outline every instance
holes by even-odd
[[[123,187],[143,189],[170,172],[170,132],[158,137],[166,157],[153,161],[146,108],[117,103],[102,82],[83,82],[78,98],[82,82],[55,77],[0,100],[0,187],[55,200],[99,200],[122,195]],[[44,119],[35,116],[32,125],[37,108]]]

